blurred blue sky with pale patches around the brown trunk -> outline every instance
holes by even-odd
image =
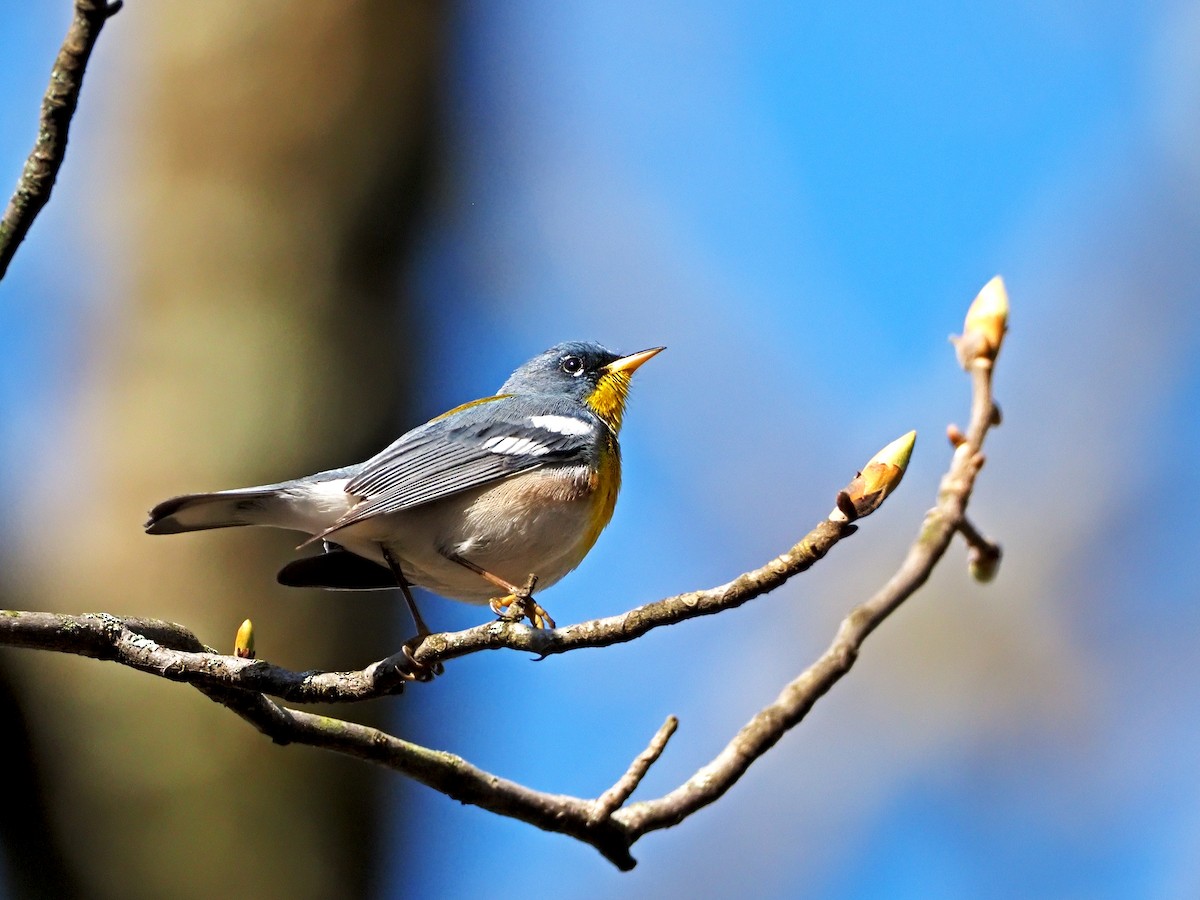
[[[22,61],[7,160],[64,25],[20,16],[0,37]],[[397,782],[427,845],[382,893],[1195,895],[1200,534],[1178,486],[1200,400],[1198,40],[1183,2],[458,7],[452,178],[413,278],[437,350],[470,362],[419,412],[559,340],[668,346],[636,378],[613,524],[542,596],[559,622],[760,564],[876,449],[920,439],[901,491],[802,584],[632,647],[464,660],[403,700],[410,737],[572,793],[668,713],[646,796],[710,758],[916,534],[966,410],[946,335],[996,272],[1006,422],[973,510],[1007,557],[982,588],[952,552],[811,719],[644,839],[635,872]],[[89,86],[119,88],[103,68]],[[101,127],[84,118],[79,146]],[[0,288],[6,472],[54,439],[30,403],[71,390],[86,340],[54,326],[83,292],[49,262],[54,235],[82,240],[77,176]],[[443,628],[479,614],[426,607]]]

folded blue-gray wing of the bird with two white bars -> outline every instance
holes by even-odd
[[[346,485],[361,500],[325,532],[546,466],[594,457],[604,425],[570,401],[488,397],[408,432]]]

